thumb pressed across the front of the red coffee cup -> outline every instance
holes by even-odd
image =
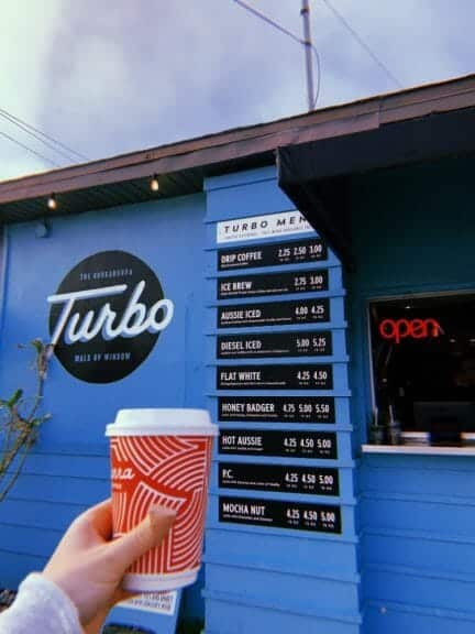
[[[154,546],[158,546],[175,522],[176,513],[165,506],[152,506],[148,515],[130,533],[111,544],[111,555],[123,570]]]

